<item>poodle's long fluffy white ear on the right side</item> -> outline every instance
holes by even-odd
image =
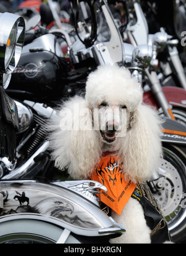
[[[161,124],[156,111],[147,105],[140,105],[133,113],[120,151],[127,179],[143,182],[157,171],[162,155]]]

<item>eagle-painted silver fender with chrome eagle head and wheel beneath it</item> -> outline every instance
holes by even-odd
[[[100,210],[94,181],[0,182],[0,244],[94,244],[125,232]]]

